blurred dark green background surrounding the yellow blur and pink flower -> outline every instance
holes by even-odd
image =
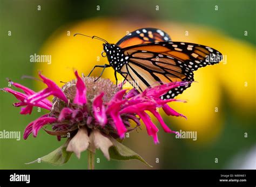
[[[35,63],[29,62],[29,56],[42,50],[42,46],[52,33],[61,29],[64,25],[76,24],[79,21],[90,20],[94,18],[105,18],[112,21],[113,18],[130,23],[140,23],[142,21],[172,21],[176,24],[201,25],[215,28],[224,36],[239,41],[242,45],[253,48],[254,59],[250,59],[253,67],[251,73],[254,77],[255,85],[255,1],[14,1],[0,0],[0,62],[1,75],[0,87],[7,87],[6,77],[22,83],[29,88],[38,88],[33,80],[21,80],[22,75],[35,75],[38,67]],[[37,6],[41,6],[41,11]],[[100,11],[97,11],[97,5]],[[156,11],[156,6],[159,11]],[[215,9],[218,5],[218,10]],[[113,19],[112,25],[115,24]],[[120,24],[120,23],[119,23]],[[154,25],[150,25],[154,26]],[[100,25],[97,25],[100,27]],[[104,32],[113,34],[113,30]],[[11,31],[11,37],[8,36]],[[248,31],[245,37],[244,31]],[[103,32],[103,31],[102,31]],[[125,31],[124,31],[125,33]],[[123,35],[124,35],[123,33]],[[90,33],[93,34],[93,33]],[[118,33],[120,35],[120,33]],[[172,35],[171,35],[172,37]],[[209,36],[211,37],[211,36]],[[107,38],[105,38],[108,40]],[[80,39],[80,40],[84,40]],[[114,42],[114,41],[113,41]],[[91,44],[91,43],[88,43]],[[86,42],[84,42],[86,45]],[[209,44],[210,45],[210,44]],[[228,44],[227,44],[228,45]],[[102,46],[99,51],[102,51]],[[233,49],[239,55],[240,46]],[[228,49],[227,49],[228,50]],[[242,55],[242,54],[241,54]],[[240,56],[242,58],[242,56]],[[95,62],[97,63],[97,62]],[[241,61],[241,66],[246,61]],[[59,66],[62,66],[59,62]],[[63,64],[64,66],[64,64]],[[214,66],[215,67],[215,66]],[[214,68],[213,68],[214,69]],[[48,71],[55,72],[58,69]],[[225,72],[222,71],[222,74]],[[232,72],[228,72],[231,74]],[[233,72],[234,76],[240,78],[239,72]],[[71,71],[70,71],[70,74]],[[228,80],[227,80],[228,81]],[[218,81],[216,81],[218,82]],[[212,82],[211,84],[214,84]],[[233,92],[236,92],[235,82]],[[203,87],[204,88],[204,87]],[[253,87],[255,88],[255,86]],[[206,88],[207,89],[207,88]],[[147,136],[145,129],[139,133],[133,132],[130,138],[125,140],[125,145],[136,151],[144,159],[152,164],[153,169],[227,169],[242,168],[247,163],[246,154],[254,149],[255,168],[255,146],[256,146],[256,127],[255,127],[255,89],[252,89],[251,105],[240,109],[239,102],[248,99],[246,95],[240,97],[238,104],[234,105],[230,101],[228,91],[219,85],[221,90],[220,105],[221,108],[221,131],[208,141],[210,143],[197,143],[192,140],[177,140],[173,134],[165,134],[162,130],[159,132],[160,144],[154,145],[151,137]],[[232,92],[232,91],[231,91]],[[250,97],[251,97],[250,95]],[[209,95],[209,100],[214,95]],[[12,106],[16,99],[7,93],[0,93],[0,131],[21,131],[30,121],[41,116],[45,111],[38,113],[33,110],[30,116],[22,116],[17,109]],[[202,100],[202,105],[207,105],[207,100]],[[197,109],[194,109],[195,111]],[[190,111],[186,111],[189,113]],[[198,115],[204,115],[199,113]],[[219,118],[217,116],[216,118]],[[171,118],[166,118],[168,121]],[[189,120],[189,119],[188,119]],[[179,121],[172,121],[172,129],[182,129]],[[186,123],[185,120],[182,123]],[[219,120],[215,124],[218,127]],[[248,138],[244,137],[248,133]],[[206,135],[207,136],[207,135]],[[25,165],[24,163],[36,160],[38,157],[50,153],[61,145],[56,137],[50,136],[43,131],[39,132],[37,138],[30,136],[28,140],[16,141],[0,139],[0,169],[86,169],[86,153],[82,154],[80,160],[72,155],[70,161],[63,166],[51,166],[46,163],[35,163]],[[240,155],[240,156],[239,156]],[[254,156],[254,157],[253,157]],[[99,151],[96,157],[100,158],[100,163],[96,163],[96,169],[144,169],[142,163],[137,161],[107,161]],[[156,163],[156,158],[159,163]],[[218,163],[215,163],[218,158]],[[246,165],[247,166],[247,165]]]

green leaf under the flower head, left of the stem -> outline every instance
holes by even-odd
[[[72,154],[72,152],[67,152],[66,151],[66,147],[69,144],[70,139],[68,139],[64,145],[60,146],[59,148],[53,150],[53,152],[49,153],[48,155],[45,155],[43,157],[41,157],[40,159],[37,159],[35,161],[29,162],[29,163],[25,163],[25,164],[31,164],[31,163],[35,163],[35,162],[39,162],[39,160],[41,162],[46,162],[46,163],[50,163],[53,165],[62,165],[66,162],[69,161],[70,156]]]

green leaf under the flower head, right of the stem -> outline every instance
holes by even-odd
[[[118,142],[117,140],[111,138],[111,141],[114,146],[109,148],[110,158],[114,160],[131,160],[136,159],[140,162],[143,162],[149,167],[152,167],[148,164],[141,156],[135,153],[133,150],[129,149],[128,147],[124,146],[122,143]]]

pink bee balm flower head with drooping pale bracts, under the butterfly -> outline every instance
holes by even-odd
[[[75,71],[76,80],[66,83],[62,88],[41,73],[39,76],[47,86],[39,92],[15,82],[11,84],[23,92],[10,88],[3,89],[19,100],[14,106],[22,106],[21,114],[30,114],[33,106],[49,111],[48,114],[44,114],[26,126],[23,138],[27,139],[31,133],[36,137],[42,127],[51,125],[51,131],[46,128],[44,130],[51,135],[56,135],[58,140],[70,138],[66,150],[75,152],[78,157],[86,149],[92,152],[95,152],[95,149],[101,149],[107,159],[110,159],[108,149],[113,146],[111,138],[123,139],[126,132],[140,125],[140,119],[145,124],[147,133],[153,137],[155,143],[158,143],[158,127],[145,111],[151,112],[156,117],[166,133],[177,132],[172,131],[165,124],[158,112],[159,108],[162,107],[167,115],[184,117],[167,105],[167,103],[181,100],[162,100],[160,96],[187,82],[158,85],[139,93],[135,89],[123,90],[110,80],[103,78],[95,81],[94,77],[80,77],[77,71]],[[55,96],[52,102],[46,99],[48,96]],[[133,128],[131,121],[136,124]]]

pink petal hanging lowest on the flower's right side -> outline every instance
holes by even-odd
[[[153,137],[154,143],[156,144],[159,143],[158,137],[157,137],[158,128],[156,127],[156,125],[153,124],[149,115],[147,115],[146,112],[140,112],[138,113],[138,115],[140,118],[142,118],[143,123],[146,126],[147,134]]]

